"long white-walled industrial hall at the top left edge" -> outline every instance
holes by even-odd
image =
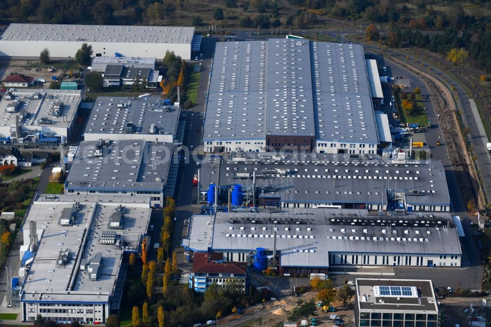
[[[193,36],[194,27],[10,24],[0,37],[0,56],[39,57],[48,48],[51,57],[75,57],[87,43],[96,57],[162,58],[173,51],[189,60]]]

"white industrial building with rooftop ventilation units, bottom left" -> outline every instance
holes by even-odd
[[[41,314],[56,323],[104,324],[118,312],[128,253],[140,250],[150,214],[148,196],[37,194],[7,301],[20,305],[23,322]]]

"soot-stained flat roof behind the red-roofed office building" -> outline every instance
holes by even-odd
[[[462,253],[448,213],[379,217],[357,209],[282,208],[275,213],[195,215],[182,245],[195,251],[273,250],[274,229],[282,266],[327,267],[327,254],[337,252]]]

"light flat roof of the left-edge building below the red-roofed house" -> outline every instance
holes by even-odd
[[[20,127],[39,126],[53,128],[69,128],[72,124],[81,101],[81,90],[40,90],[40,89],[16,89],[12,92],[14,100],[7,100],[4,96],[0,101],[0,127],[15,126],[16,115],[21,116]],[[7,112],[7,107],[12,103],[21,102],[17,112]],[[60,115],[54,115],[55,104],[63,102]],[[40,119],[47,117],[51,123],[41,124]]]

